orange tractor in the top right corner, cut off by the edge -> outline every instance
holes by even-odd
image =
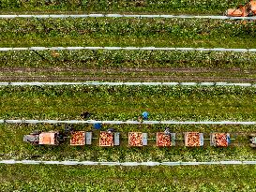
[[[250,17],[256,15],[256,0],[250,0],[246,5],[229,8],[226,13],[229,17]]]

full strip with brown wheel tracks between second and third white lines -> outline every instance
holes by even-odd
[[[255,52],[0,52],[0,81],[254,82]]]

